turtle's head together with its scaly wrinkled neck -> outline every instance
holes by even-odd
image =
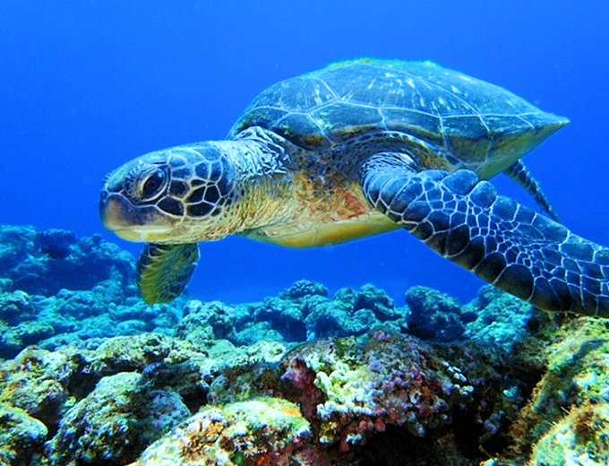
[[[181,245],[218,240],[280,215],[279,199],[289,195],[280,150],[251,133],[127,162],[102,190],[105,225],[130,241]]]

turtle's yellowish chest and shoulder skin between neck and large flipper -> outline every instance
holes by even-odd
[[[257,134],[267,133],[262,128],[255,129]],[[245,131],[247,138],[252,137],[250,131]],[[243,134],[239,134],[237,141],[242,138]],[[362,191],[358,168],[373,153],[404,151],[417,157],[421,168],[450,168],[447,160],[424,141],[399,132],[352,137],[321,152],[304,151],[277,135],[274,138],[285,145],[289,154],[285,169],[288,188],[284,189],[279,204],[275,204],[276,186],[257,183],[249,201],[251,210],[262,208],[270,212],[271,220],[253,222],[254,227],[242,234],[282,246],[332,245],[399,228],[373,208]]]

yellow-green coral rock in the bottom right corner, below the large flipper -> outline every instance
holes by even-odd
[[[538,466],[608,464],[609,322],[570,319],[522,344],[543,349],[544,374],[511,426],[513,447],[506,457],[530,457],[528,464]]]

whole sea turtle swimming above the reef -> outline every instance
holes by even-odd
[[[149,243],[138,263],[149,303],[179,296],[201,241],[310,247],[404,228],[542,309],[609,315],[609,249],[554,221],[520,161],[568,123],[430,62],[340,62],[263,91],[225,141],[117,168],[100,213]],[[554,220],[496,194],[485,180],[502,172]]]

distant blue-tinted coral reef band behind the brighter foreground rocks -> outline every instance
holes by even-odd
[[[399,307],[373,285],[339,289],[330,299],[325,287],[306,280],[260,303],[227,306],[180,298],[146,306],[133,284],[133,259],[100,237],[0,227],[0,240],[0,358],[13,358],[31,344],[55,350],[142,332],[193,342],[226,339],[238,346],[361,335],[378,328],[431,341],[467,336],[510,350],[532,313],[530,306],[491,287],[467,306],[414,287],[407,291],[407,306]]]

